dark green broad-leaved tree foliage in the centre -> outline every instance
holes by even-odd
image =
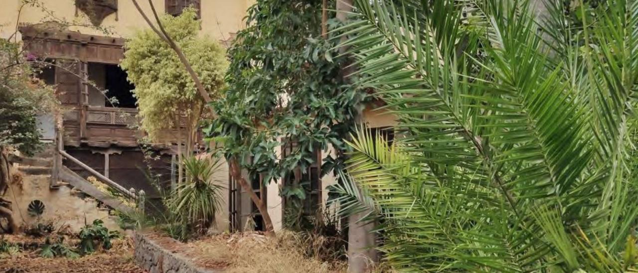
[[[237,159],[253,178],[262,175],[264,184],[297,167],[305,172],[316,161],[313,149],[328,155],[322,173],[340,166],[342,139],[364,97],[344,83],[346,60],[334,42],[321,38],[321,13],[320,0],[256,1],[228,52],[228,92],[213,103],[218,117],[207,133],[223,143],[226,158]],[[282,156],[281,146],[291,141],[298,145]],[[288,208],[301,207],[304,185],[308,181],[281,191],[286,204],[295,204]]]

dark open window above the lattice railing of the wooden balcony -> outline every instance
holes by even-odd
[[[126,72],[117,64],[89,63],[89,105],[100,107],[135,108],[131,92],[135,86],[128,82]],[[102,91],[106,91],[104,94]],[[108,98],[108,100],[107,100]]]

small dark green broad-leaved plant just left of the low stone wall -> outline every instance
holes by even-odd
[[[95,219],[93,224],[85,225],[80,230],[78,237],[80,237],[78,251],[84,255],[95,252],[96,246],[101,246],[102,249],[110,249],[112,247],[111,239],[119,237],[119,232],[109,231],[102,220]]]

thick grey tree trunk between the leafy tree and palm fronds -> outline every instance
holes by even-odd
[[[352,0],[337,1],[337,19],[345,22],[347,15],[352,11]],[[341,38],[341,43],[348,38]],[[339,48],[339,53],[343,54],[347,50],[346,47]],[[348,63],[341,70],[342,77],[350,75],[355,68]],[[347,79],[345,79],[348,81]],[[348,217],[348,271],[349,272],[369,272],[375,262],[378,260],[376,252],[376,233],[373,232],[376,223],[357,223],[369,211],[359,212]]]

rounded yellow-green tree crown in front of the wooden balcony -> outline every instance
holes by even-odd
[[[209,36],[200,36],[200,20],[195,11],[180,16],[161,16],[167,33],[182,48],[211,98],[219,98],[228,62],[225,50]],[[151,29],[138,31],[126,41],[120,66],[135,84],[142,129],[151,140],[161,139],[162,131],[176,128],[178,115],[188,117],[187,128],[197,124],[204,112],[204,100],[177,54]]]

